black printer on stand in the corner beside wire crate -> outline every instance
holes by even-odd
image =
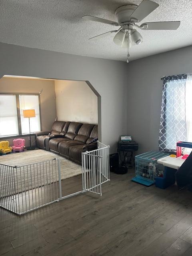
[[[134,140],[126,141],[119,140],[118,141],[118,153],[121,162],[122,168],[125,168],[124,172],[127,172],[128,164],[134,164],[134,155],[133,153],[138,150],[138,143]],[[128,161],[129,158],[129,161]]]

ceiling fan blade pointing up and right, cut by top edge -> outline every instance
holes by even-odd
[[[148,16],[151,12],[153,12],[159,4],[152,2],[150,0],[143,0],[140,5],[134,10],[131,14],[130,18],[137,19],[138,22],[143,20],[146,16]]]

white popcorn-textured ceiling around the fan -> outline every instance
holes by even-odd
[[[83,56],[126,60],[126,49],[110,35],[88,38],[115,26],[82,20],[88,14],[116,21],[115,9],[141,0],[0,0],[0,42]],[[132,46],[131,60],[192,44],[192,0],[154,0],[160,6],[143,22],[180,20],[176,31],[143,31],[144,42]]]

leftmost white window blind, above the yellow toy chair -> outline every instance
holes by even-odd
[[[0,95],[0,136],[18,135],[15,95]]]

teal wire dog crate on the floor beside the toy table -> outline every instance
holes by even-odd
[[[132,178],[132,181],[145,186],[154,184],[160,166],[160,164],[157,163],[157,160],[168,155],[169,154],[164,152],[149,151],[135,156],[136,176]]]

